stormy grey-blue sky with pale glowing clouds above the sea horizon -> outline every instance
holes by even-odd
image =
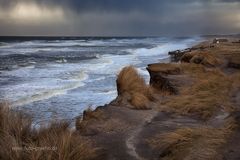
[[[189,36],[240,32],[240,0],[0,0],[0,35]]]

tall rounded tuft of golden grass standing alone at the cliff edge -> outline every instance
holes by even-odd
[[[117,77],[118,96],[126,97],[134,109],[149,109],[149,102],[153,101],[151,87],[143,77],[132,67],[124,67]]]

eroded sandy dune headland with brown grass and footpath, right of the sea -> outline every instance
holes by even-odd
[[[134,69],[126,68],[131,75],[128,70],[121,79],[118,75],[118,97],[76,120],[74,134],[100,148],[86,159],[239,157],[240,144],[234,141],[240,139],[237,40],[211,39],[171,52],[184,53],[175,57],[177,63],[149,64],[149,84],[139,82],[140,89],[139,74],[132,78]]]

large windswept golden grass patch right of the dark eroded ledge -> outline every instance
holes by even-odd
[[[206,71],[195,64],[187,66],[183,67],[187,68],[184,72],[195,79],[194,84],[162,102],[162,109],[183,115],[199,115],[202,119],[212,117],[220,109],[231,110],[231,79],[217,69]]]

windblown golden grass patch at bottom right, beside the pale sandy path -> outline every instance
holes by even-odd
[[[147,142],[159,151],[162,160],[212,160],[218,158],[218,149],[227,142],[231,133],[225,128],[186,127],[158,134]]]

